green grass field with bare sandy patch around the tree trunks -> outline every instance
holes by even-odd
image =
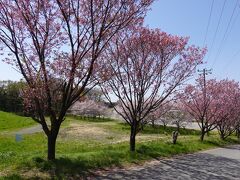
[[[8,117],[7,124],[4,116]],[[130,153],[128,125],[110,119],[69,116],[57,140],[57,160],[48,162],[44,133],[23,135],[22,141],[15,141],[16,130],[36,125],[34,121],[24,121],[26,124],[22,124],[22,119],[26,122],[30,120],[0,113],[0,125],[5,124],[4,128],[0,127],[0,179],[80,178],[91,175],[96,169],[129,166],[154,158],[237,143],[235,136],[226,141],[220,140],[217,132],[200,142],[199,131],[181,129],[178,142],[173,145],[171,134],[174,128],[146,126],[137,135],[136,152]]]

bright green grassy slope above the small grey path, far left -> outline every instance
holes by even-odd
[[[36,124],[31,118],[0,111],[0,132],[17,130]]]

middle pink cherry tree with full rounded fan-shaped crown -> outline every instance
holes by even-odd
[[[101,88],[110,102],[115,96],[121,109],[115,110],[131,127],[130,151],[135,151],[135,137],[147,115],[201,63],[205,50],[187,42],[159,29],[138,28],[121,34],[102,56]]]

